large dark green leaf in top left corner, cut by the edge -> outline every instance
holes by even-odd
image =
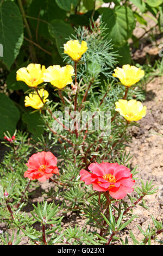
[[[17,5],[11,1],[0,4],[0,39],[3,45],[3,63],[10,69],[23,42],[23,21]]]

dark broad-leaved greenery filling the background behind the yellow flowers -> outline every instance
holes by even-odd
[[[76,29],[85,27],[91,31],[92,27],[99,26],[99,19],[105,23],[105,31],[103,31],[105,42],[103,45],[100,41],[98,43],[96,41],[96,45],[92,43],[92,51],[96,49],[96,53],[91,54],[87,66],[88,72],[94,72],[93,67],[96,67],[101,80],[108,64],[114,65],[114,62],[110,63],[110,53],[105,55],[110,40],[114,51],[118,54],[118,65],[122,66],[131,64],[131,50],[139,48],[142,36],[150,32],[154,38],[155,27],[162,31],[162,0],[115,0],[102,7],[102,4],[107,2],[106,0],[1,0],[0,67],[3,72],[0,76],[0,113],[4,113],[4,122],[0,127],[1,139],[5,131],[8,130],[13,134],[16,127],[31,133],[35,140],[43,135],[39,112],[35,113],[32,119],[29,109],[24,107],[24,92],[28,87],[22,81],[16,82],[16,71],[30,63],[41,63],[45,66],[67,64],[63,45],[70,35],[77,36]],[[155,22],[150,29],[147,27],[147,17]],[[136,22],[145,30],[141,38],[133,35]],[[131,45],[128,43],[129,39],[132,40]],[[99,54],[98,49],[101,50],[102,47],[103,52]],[[107,74],[109,76],[109,72]],[[55,101],[55,96],[52,96],[52,99]],[[33,120],[40,125],[39,129],[35,129]]]

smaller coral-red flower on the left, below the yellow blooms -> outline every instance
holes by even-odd
[[[32,155],[26,165],[28,170],[24,173],[24,177],[30,180],[46,181],[53,176],[53,173],[59,174],[57,157],[51,152],[42,151]]]

